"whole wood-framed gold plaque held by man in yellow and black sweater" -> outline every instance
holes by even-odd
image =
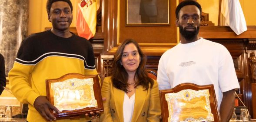
[[[104,111],[98,75],[66,74],[58,79],[47,79],[47,99],[59,109],[59,117],[77,116]]]

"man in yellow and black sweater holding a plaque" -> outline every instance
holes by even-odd
[[[28,122],[90,121],[85,115],[78,120],[56,120],[49,110],[58,112],[58,109],[46,98],[46,79],[56,79],[67,73],[97,74],[92,45],[70,32],[72,10],[70,0],[48,0],[48,20],[53,28],[23,40],[8,74],[14,96],[29,104]]]

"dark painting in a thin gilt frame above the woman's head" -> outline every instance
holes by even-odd
[[[126,0],[126,26],[170,25],[169,0]]]

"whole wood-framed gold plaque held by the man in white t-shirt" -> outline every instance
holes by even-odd
[[[160,90],[163,122],[220,122],[213,85],[183,83]]]

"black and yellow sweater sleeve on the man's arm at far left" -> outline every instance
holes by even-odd
[[[24,40],[17,53],[17,58],[10,70],[8,77],[10,90],[13,95],[23,103],[30,103],[33,106],[35,99],[40,96],[31,87],[31,73],[34,65],[29,64],[33,60],[33,44],[31,41]]]

